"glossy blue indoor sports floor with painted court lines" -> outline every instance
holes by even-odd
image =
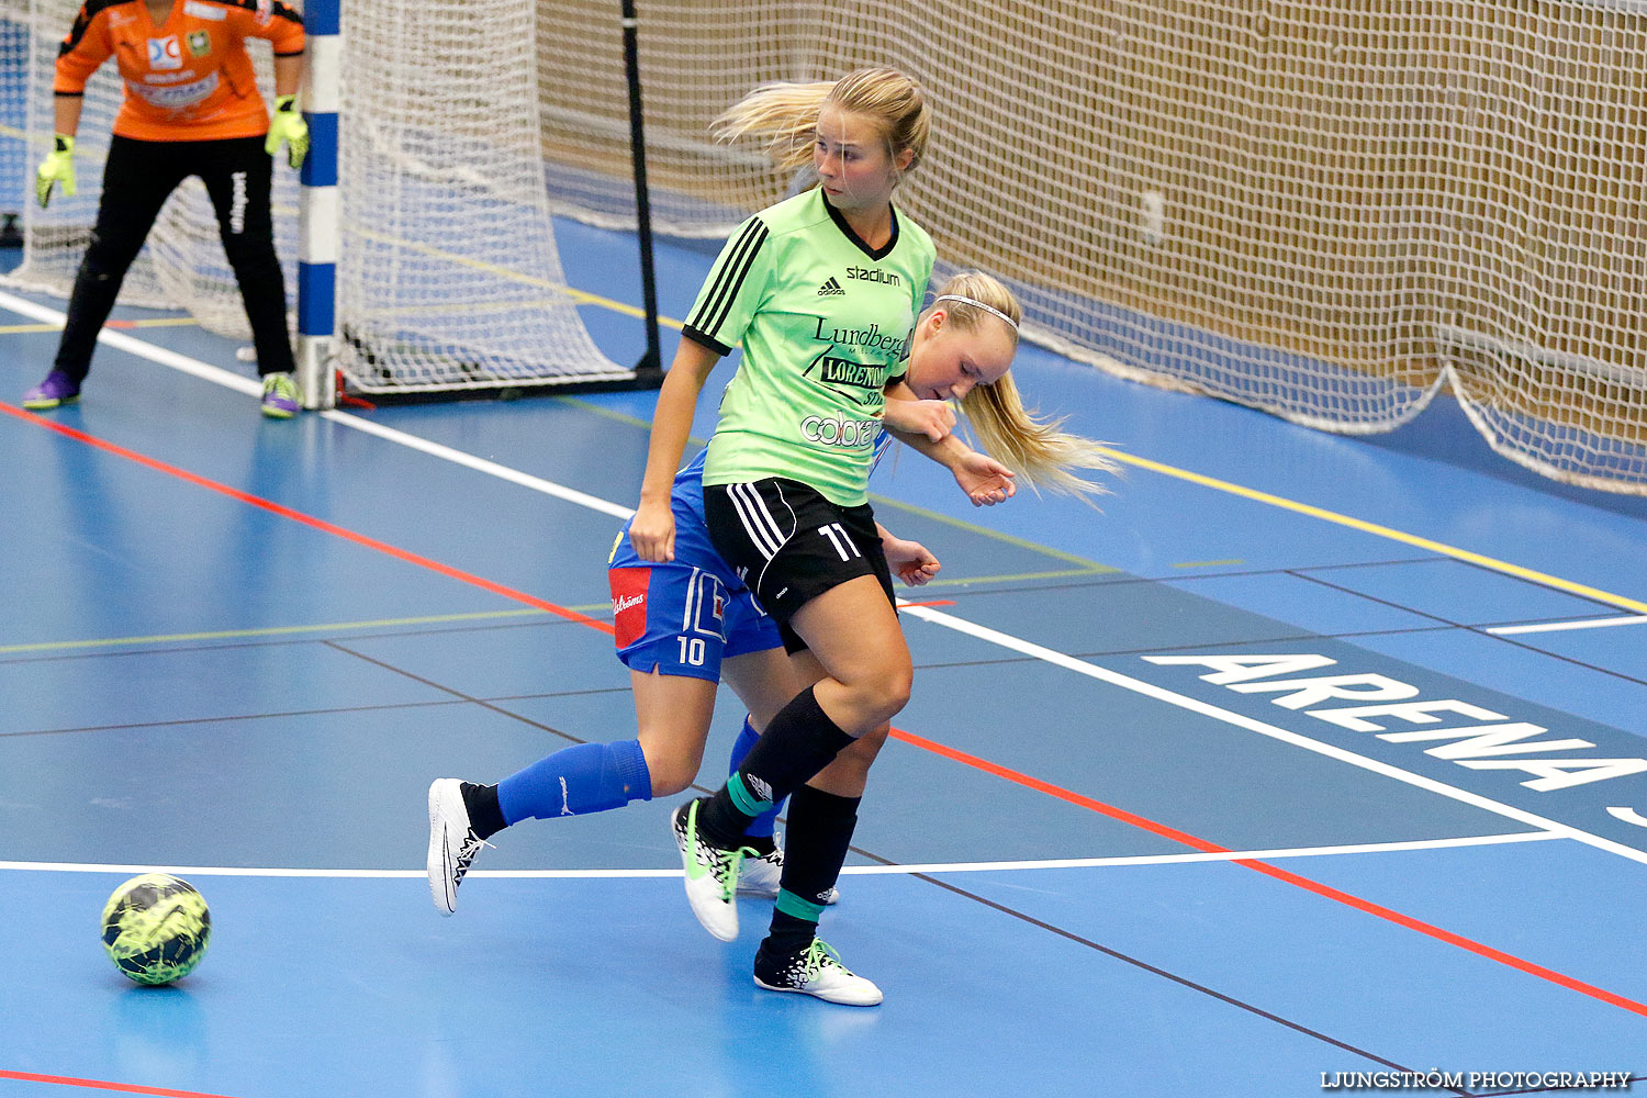
[[[560,240],[634,361],[632,240]],[[710,258],[662,245],[665,316]],[[1647,1078],[1647,505],[1456,412],[1336,438],[1024,347],[1127,463],[1102,512],[888,463],[878,515],[944,573],[824,922],[886,991],[853,1009],[753,986],[764,904],[698,928],[669,803],[512,828],[430,905],[432,779],[632,734],[603,571],[654,393],[272,423],[232,344],[120,313],[31,415],[61,303],[0,306],[5,1098]],[[97,940],[148,868],[212,910],[170,989]]]

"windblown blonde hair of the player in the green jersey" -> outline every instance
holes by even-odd
[[[896,160],[907,148],[914,153],[909,166],[921,163],[932,130],[931,115],[921,89],[898,69],[858,69],[833,82],[763,84],[715,119],[710,133],[720,142],[764,138],[766,153],[779,168],[810,168],[819,112],[825,104],[875,119],[889,158]]]

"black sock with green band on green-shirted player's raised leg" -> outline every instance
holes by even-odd
[[[851,739],[807,686],[777,711],[738,772],[698,808],[698,830],[715,846],[740,846],[751,820],[827,767]]]

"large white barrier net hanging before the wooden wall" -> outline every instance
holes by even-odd
[[[557,209],[632,224],[608,0],[539,0]],[[656,0],[654,222],[723,235],[787,179],[705,127],[891,64],[934,147],[901,201],[1026,333],[1334,431],[1444,385],[1502,454],[1647,492],[1647,0]],[[703,63],[713,58],[713,63]],[[563,184],[563,186],[562,186]]]

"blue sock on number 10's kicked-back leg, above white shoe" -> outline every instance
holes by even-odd
[[[530,817],[583,817],[631,800],[652,800],[639,739],[565,747],[497,782],[497,807],[509,825]]]

